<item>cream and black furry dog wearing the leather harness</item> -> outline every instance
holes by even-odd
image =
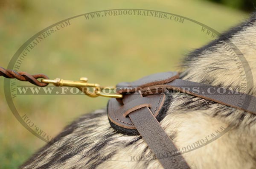
[[[180,79],[244,89],[241,92],[256,96],[256,15],[192,51],[182,68]],[[189,94],[170,91],[169,96],[169,108],[160,124],[191,169],[256,168],[255,115]],[[163,167],[140,135],[113,130],[106,109],[82,115],[20,166],[102,168]]]

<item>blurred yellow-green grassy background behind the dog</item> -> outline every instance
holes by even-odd
[[[0,66],[7,68],[17,49],[37,32],[60,20],[91,11],[142,8],[189,17],[222,32],[248,17],[245,11],[202,0],[98,1],[0,0]],[[192,23],[175,23],[156,17],[119,16],[86,20],[79,17],[35,47],[20,71],[45,73],[51,79],[115,85],[177,68],[184,54],[212,38]],[[28,85],[18,82],[17,85]],[[29,116],[54,137],[84,113],[106,106],[106,98],[87,96],[17,96],[20,115]],[[46,144],[27,131],[10,111],[0,78],[0,168],[17,168]]]

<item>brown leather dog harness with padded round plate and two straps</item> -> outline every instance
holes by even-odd
[[[254,96],[178,78],[177,72],[166,72],[119,83],[116,91],[122,99],[108,102],[111,127],[125,135],[141,135],[165,169],[190,168],[159,123],[169,106],[170,89],[256,114]]]

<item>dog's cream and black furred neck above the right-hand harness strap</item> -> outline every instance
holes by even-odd
[[[253,36],[253,37],[252,37]],[[182,79],[256,96],[256,21],[221,35],[186,58]]]

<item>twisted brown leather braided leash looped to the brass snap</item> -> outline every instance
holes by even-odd
[[[20,81],[27,81],[27,82],[32,83],[33,85],[37,85],[40,87],[45,87],[48,85],[48,83],[40,82],[37,79],[39,79],[39,78],[49,79],[49,77],[44,74],[31,75],[27,72],[16,72],[14,70],[8,70],[8,69],[2,68],[2,67],[0,67],[0,76],[4,76],[9,79],[17,79]]]

